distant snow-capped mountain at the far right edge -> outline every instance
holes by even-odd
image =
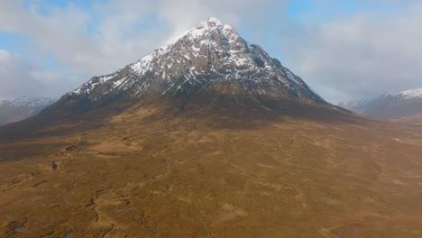
[[[346,109],[381,119],[398,119],[400,117],[422,113],[422,87],[386,94],[375,99],[341,103]]]

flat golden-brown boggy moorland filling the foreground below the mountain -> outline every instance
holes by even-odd
[[[422,237],[418,126],[134,107],[0,151],[0,237]]]

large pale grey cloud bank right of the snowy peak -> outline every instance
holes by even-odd
[[[332,102],[422,87],[420,11],[413,4],[388,17],[372,11],[309,25],[280,50]]]

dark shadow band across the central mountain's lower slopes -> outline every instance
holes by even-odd
[[[136,105],[114,102],[87,108],[74,112],[72,108],[56,105],[56,108],[48,108],[22,122],[7,124],[0,127],[0,143],[84,133],[104,126],[105,120],[116,114],[142,114],[140,108],[153,108],[156,112],[143,116],[142,124],[160,123],[164,118],[194,119],[197,124],[206,124],[216,130],[255,130],[265,124],[284,123],[286,118],[322,124],[362,124],[370,121],[331,105],[247,95],[196,95],[160,100],[151,96]]]

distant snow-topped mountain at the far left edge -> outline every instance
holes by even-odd
[[[0,125],[31,117],[56,101],[57,99],[46,96],[20,96],[14,100],[2,100],[0,101]]]

